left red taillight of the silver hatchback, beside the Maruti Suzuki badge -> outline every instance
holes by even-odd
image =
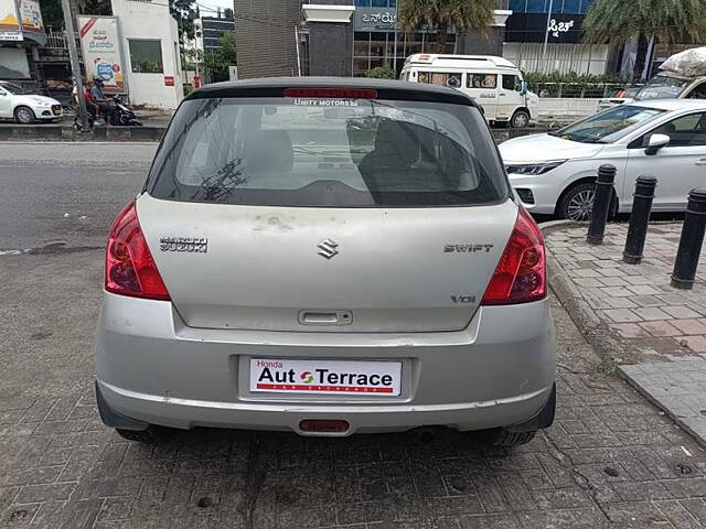
[[[114,294],[170,300],[142,235],[135,201],[125,206],[110,227],[106,249],[105,287]]]

